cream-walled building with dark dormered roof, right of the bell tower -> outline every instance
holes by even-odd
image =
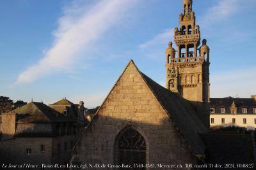
[[[251,98],[211,98],[210,101],[211,127],[256,128],[256,96]]]

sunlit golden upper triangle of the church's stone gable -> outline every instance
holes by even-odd
[[[131,60],[106,97],[97,116],[125,118],[135,122],[140,121],[142,117],[147,117],[143,120],[144,123],[156,124],[157,121],[152,114],[159,114],[159,112],[163,112],[161,104],[158,103]],[[168,115],[165,113],[161,118],[168,118]]]

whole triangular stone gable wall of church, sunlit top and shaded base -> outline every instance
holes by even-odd
[[[195,162],[196,152],[153,91],[161,86],[150,86],[148,78],[131,60],[86,128],[74,158],[87,163],[118,163],[120,155],[125,155],[121,153],[127,145],[124,141],[134,134],[138,143],[131,146],[140,145],[136,148],[143,149],[136,152],[144,154],[139,156],[144,158],[142,163]]]

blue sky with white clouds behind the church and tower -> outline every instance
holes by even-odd
[[[256,94],[255,0],[194,0],[210,53],[211,97]],[[2,0],[0,96],[98,106],[130,59],[164,85],[182,0]]]

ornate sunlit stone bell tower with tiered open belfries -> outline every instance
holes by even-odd
[[[192,0],[183,0],[179,28],[174,29],[174,42],[166,49],[166,88],[188,99],[199,108],[209,103],[209,47],[206,39],[200,45],[200,27]],[[200,104],[199,104],[200,103]],[[200,105],[200,107],[199,107]]]

